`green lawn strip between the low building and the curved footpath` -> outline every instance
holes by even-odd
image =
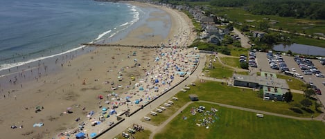
[[[309,106],[310,113],[300,109],[299,102],[304,99],[304,95],[292,93],[294,102],[272,102],[265,101],[258,98],[258,91],[252,89],[241,89],[237,87],[227,86],[220,82],[197,82],[196,86],[191,86],[191,90],[187,93],[177,93],[176,97],[181,99],[188,99],[188,94],[194,93],[198,95],[199,100],[206,100],[210,102],[219,102],[223,104],[230,104],[234,106],[242,106],[249,109],[257,109],[261,111],[268,111],[272,113],[280,113],[284,115],[292,115],[297,117],[317,116],[319,113],[315,111],[314,101],[312,106]],[[297,106],[298,104],[298,106]],[[300,113],[295,113],[290,109],[299,109]]]

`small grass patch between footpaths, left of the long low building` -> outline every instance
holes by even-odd
[[[214,57],[208,57],[208,60],[207,60],[206,66],[203,70],[203,73],[205,75],[208,75],[209,77],[216,77],[219,79],[222,79],[225,77],[231,77],[232,74],[234,73],[234,70],[232,68],[229,68],[227,66],[223,66],[222,64],[220,64],[218,59],[216,60],[216,62],[213,62],[213,58]],[[212,60],[214,68],[211,68],[211,69],[208,68],[209,60]]]

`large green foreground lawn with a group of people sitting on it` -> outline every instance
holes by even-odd
[[[204,113],[191,114],[191,109],[203,105],[207,111],[218,109],[216,116]],[[186,120],[184,120],[186,118]],[[196,124],[202,123],[203,118],[212,118],[209,129]],[[166,127],[155,135],[155,139],[162,138],[222,138],[222,139],[254,139],[254,138],[324,138],[324,123],[320,121],[293,120],[288,118],[264,115],[257,118],[256,113],[228,109],[215,104],[195,102],[188,106]],[[299,133],[297,133],[297,131]]]

